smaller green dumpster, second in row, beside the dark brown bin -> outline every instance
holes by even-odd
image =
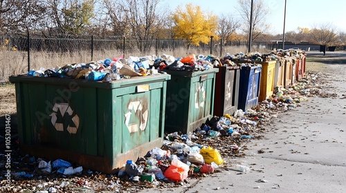
[[[215,73],[219,69],[164,71],[171,75],[167,81],[165,132],[193,132],[213,116]]]

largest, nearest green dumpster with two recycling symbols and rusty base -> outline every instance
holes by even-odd
[[[120,81],[12,76],[23,154],[113,173],[161,147],[168,74]]]

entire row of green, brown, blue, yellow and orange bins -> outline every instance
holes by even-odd
[[[164,132],[193,132],[214,115],[255,107],[274,84],[293,83],[293,61],[260,64],[111,82],[12,76],[20,150],[113,173],[161,146]]]

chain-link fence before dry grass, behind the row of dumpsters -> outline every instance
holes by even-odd
[[[213,54],[222,56],[233,53],[230,47],[246,47],[242,41],[214,41],[199,46],[177,39],[137,40],[131,37],[69,37],[57,34],[45,37],[42,34],[12,34],[0,37],[0,79],[8,80],[13,74],[28,70],[55,68],[67,63],[86,63],[112,57],[170,54],[185,57],[187,54]],[[254,48],[271,49],[266,43],[254,43]]]

